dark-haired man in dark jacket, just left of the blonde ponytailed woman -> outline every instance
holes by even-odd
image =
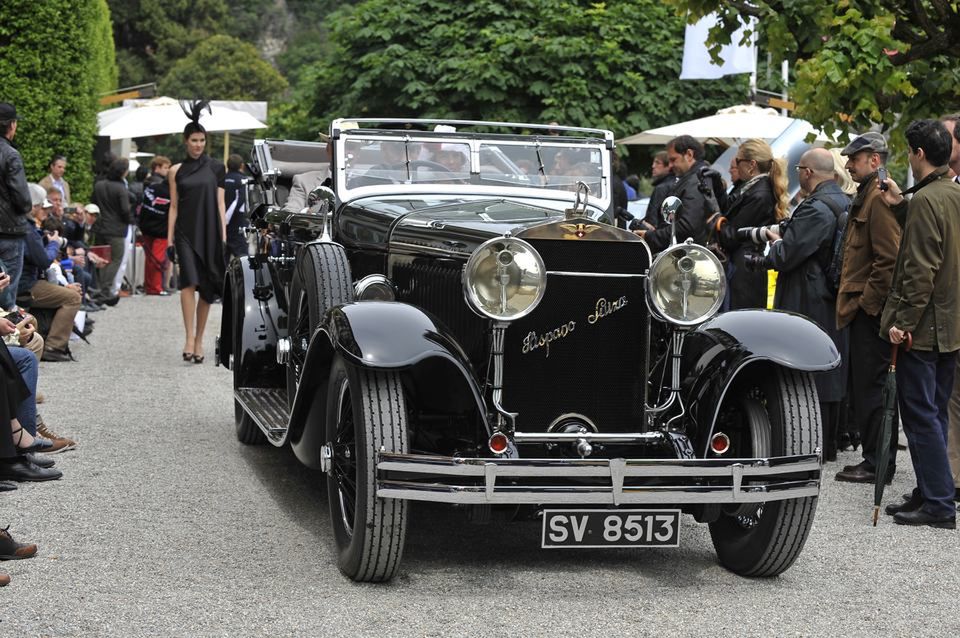
[[[689,135],[681,135],[667,143],[670,168],[679,179],[671,195],[680,198],[682,206],[677,214],[677,241],[692,238],[698,244],[707,242],[707,217],[719,210],[712,178],[703,171],[710,167],[703,161],[703,146]],[[650,250],[658,253],[670,245],[670,224],[663,220],[652,231],[635,231],[643,237]]]

